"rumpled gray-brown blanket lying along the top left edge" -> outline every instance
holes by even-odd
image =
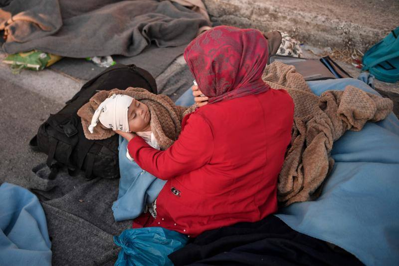
[[[2,49],[39,49],[67,57],[139,54],[188,44],[208,21],[178,3],[158,0],[0,0]]]

